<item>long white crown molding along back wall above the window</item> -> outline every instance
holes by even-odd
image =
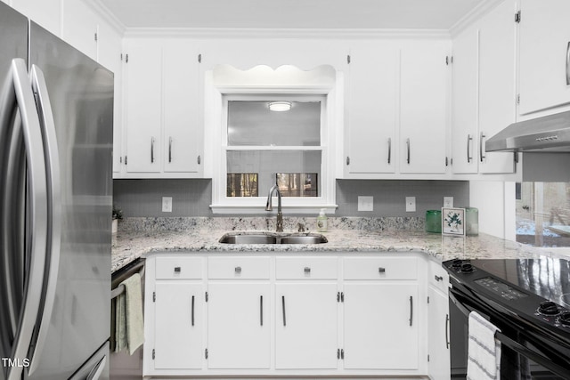
[[[447,29],[126,28],[126,37],[450,39]]]

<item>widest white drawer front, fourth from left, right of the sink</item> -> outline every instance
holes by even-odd
[[[344,261],[345,279],[417,279],[415,257],[351,257]]]

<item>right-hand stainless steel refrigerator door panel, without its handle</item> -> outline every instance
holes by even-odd
[[[61,380],[110,336],[113,75],[34,22],[29,52],[53,114],[61,248],[52,312],[38,323],[24,378]]]

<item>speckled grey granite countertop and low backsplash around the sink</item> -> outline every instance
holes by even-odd
[[[267,218],[129,218],[112,240],[111,271],[152,252],[196,251],[208,253],[257,252],[409,252],[421,251],[436,260],[452,258],[529,258],[560,255],[556,249],[539,249],[486,234],[455,237],[423,231],[421,218],[330,218],[322,232],[324,244],[249,245],[223,244],[228,232],[273,232]],[[314,219],[314,218],[313,218]],[[417,219],[417,220],[416,220]],[[297,218],[285,223],[285,233],[297,233]],[[316,230],[309,230],[317,233]]]

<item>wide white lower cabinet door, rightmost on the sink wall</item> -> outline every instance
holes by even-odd
[[[418,368],[418,286],[345,282],[345,368]]]

